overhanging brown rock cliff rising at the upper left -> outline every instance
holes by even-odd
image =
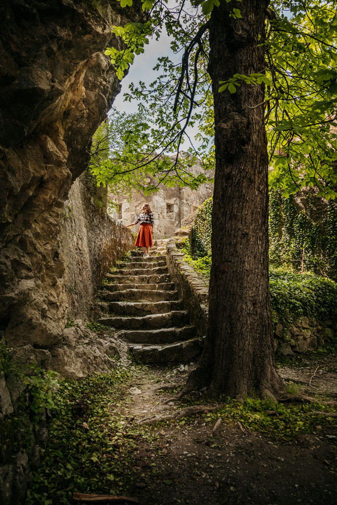
[[[140,15],[118,2],[94,5],[5,0],[0,7],[0,329],[11,346],[62,339],[64,201],[120,89],[103,54],[118,46],[111,27]]]

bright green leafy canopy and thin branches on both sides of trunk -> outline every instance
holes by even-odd
[[[226,1],[232,6],[229,22],[239,31],[240,1]],[[120,3],[126,7],[132,0]],[[191,5],[179,0],[174,6],[162,0],[142,0],[143,20],[114,27],[125,46],[121,51],[109,47],[106,54],[119,78],[133,63],[134,55],[143,53],[148,38],[158,39],[164,27],[172,37],[173,51],[184,48],[184,52],[180,65],[165,55],[159,58],[155,67],[158,77],[150,86],[144,82],[130,85],[125,99],[137,100],[140,117],[132,128],[124,130],[125,148],[120,153],[123,168],[92,166],[101,181],[118,181],[124,174],[129,179],[132,171],[143,170],[150,162],[152,172],[157,171],[157,182],[194,188],[204,182],[202,177],[196,179],[188,173],[188,163],[181,165],[178,155],[171,159],[165,155],[178,153],[186,139],[187,125],[198,125],[200,145],[192,145],[189,153],[200,157],[205,167],[214,166],[207,31],[210,13],[219,5],[218,0],[194,0]],[[235,74],[228,81],[213,83],[224,93],[235,93],[240,86],[265,86],[270,185],[279,188],[284,197],[304,186],[317,187],[318,195],[327,199],[337,194],[336,9],[334,2],[272,1],[266,12],[266,40],[261,41],[266,71],[249,76]],[[146,155],[137,156],[136,149]],[[157,183],[143,186],[153,190]]]

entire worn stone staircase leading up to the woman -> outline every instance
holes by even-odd
[[[146,259],[131,251],[130,261],[107,275],[102,292],[111,315],[99,322],[113,327],[142,363],[188,362],[204,345],[170,280],[164,246],[153,247]]]

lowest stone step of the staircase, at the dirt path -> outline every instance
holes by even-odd
[[[204,346],[203,338],[192,338],[167,345],[129,346],[133,358],[142,363],[184,363],[200,355]]]

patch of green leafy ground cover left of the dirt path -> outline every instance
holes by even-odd
[[[151,443],[148,427],[127,425],[132,372],[122,368],[79,381],[54,395],[49,442],[26,505],[72,503],[72,493],[127,494],[136,475],[132,452]]]

